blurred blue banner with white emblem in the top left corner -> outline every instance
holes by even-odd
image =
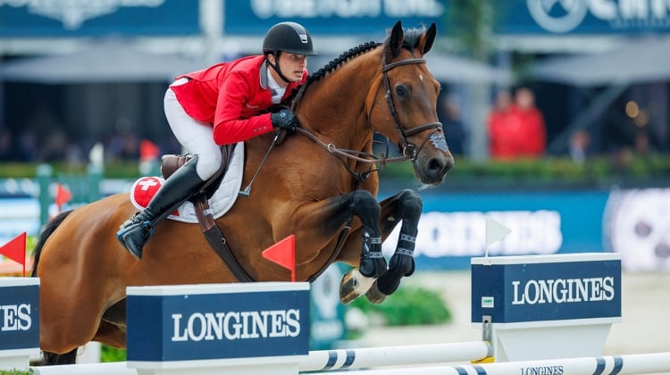
[[[192,0],[0,0],[2,37],[200,33]]]

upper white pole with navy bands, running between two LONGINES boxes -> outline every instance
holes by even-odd
[[[484,341],[415,346],[383,346],[309,352],[300,371],[361,369],[440,362],[477,361],[490,357],[493,349]]]

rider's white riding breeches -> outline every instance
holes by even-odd
[[[177,79],[170,86],[183,85],[188,79]],[[214,143],[212,125],[197,121],[181,107],[177,96],[168,87],[164,99],[165,117],[167,117],[172,133],[188,154],[197,155],[197,175],[202,180],[214,176],[222,163],[221,146]]]

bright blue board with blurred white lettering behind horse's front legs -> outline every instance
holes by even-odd
[[[486,250],[486,217],[511,229],[490,255],[603,252],[608,191],[423,193],[417,270],[467,269]],[[399,229],[384,242],[395,250]]]

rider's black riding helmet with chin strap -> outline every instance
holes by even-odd
[[[296,22],[281,22],[272,26],[263,39],[265,61],[279,74],[281,79],[289,82],[289,79],[281,72],[279,64],[270,63],[270,60],[267,59],[268,54],[274,54],[275,59],[279,59],[281,52],[306,54],[307,56],[317,54],[312,46],[312,36],[309,35],[307,29]]]

